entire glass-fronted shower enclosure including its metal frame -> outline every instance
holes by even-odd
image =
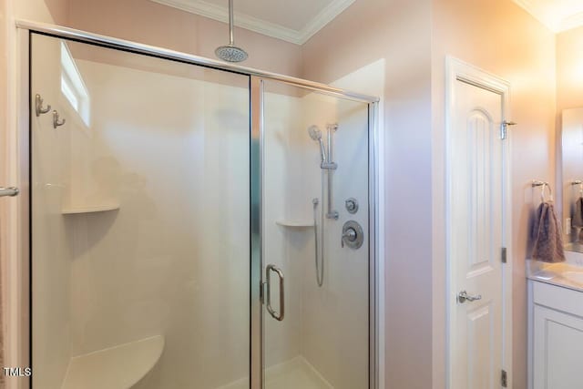
[[[375,389],[376,99],[18,26],[30,387]]]

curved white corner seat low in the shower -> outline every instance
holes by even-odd
[[[158,363],[164,337],[136,342],[71,358],[62,389],[129,389]]]

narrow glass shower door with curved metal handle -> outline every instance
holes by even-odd
[[[264,81],[268,389],[369,388],[368,104]]]

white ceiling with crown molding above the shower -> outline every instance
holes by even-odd
[[[229,0],[151,0],[220,22]],[[302,45],[356,0],[233,0],[235,26]]]

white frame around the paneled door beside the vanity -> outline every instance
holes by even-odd
[[[454,277],[452,261],[452,134],[455,115],[455,83],[463,81],[482,87],[502,97],[502,120],[510,118],[510,83],[485,70],[470,65],[453,56],[445,58],[445,382],[452,388],[452,357],[455,350],[455,321],[451,320],[457,302],[455,295],[459,289]],[[511,196],[511,144],[512,133],[506,131],[506,141],[502,143],[502,244],[506,247],[506,264],[502,267],[502,366],[506,370],[508,387],[512,387],[512,196]]]

